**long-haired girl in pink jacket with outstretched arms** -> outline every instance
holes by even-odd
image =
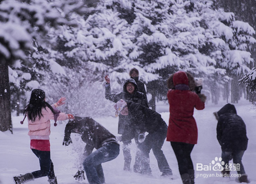
[[[45,101],[45,91],[41,89],[32,90],[29,104],[25,109],[25,117],[28,117],[28,128],[30,136],[30,148],[39,158],[40,170],[13,177],[16,184],[22,184],[34,178],[48,176],[50,184],[57,184],[57,179],[53,170],[53,163],[50,155],[50,120],[74,119],[72,114],[65,114],[56,107],[65,104],[66,98],[60,98],[57,103],[50,105]]]

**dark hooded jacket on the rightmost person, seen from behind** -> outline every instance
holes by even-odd
[[[217,139],[222,151],[246,150],[246,126],[232,104],[224,105],[218,112]]]

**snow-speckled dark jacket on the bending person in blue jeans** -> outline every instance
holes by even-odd
[[[70,138],[71,133],[82,135],[81,139],[86,143],[86,156],[91,154],[94,148],[99,149],[106,143],[116,142],[115,135],[91,117],[75,117],[75,120],[69,120],[65,127],[64,137]]]

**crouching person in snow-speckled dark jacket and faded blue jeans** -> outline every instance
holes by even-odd
[[[84,171],[90,184],[101,184],[105,182],[101,163],[116,158],[119,154],[119,144],[115,135],[97,123],[91,117],[75,117],[69,121],[65,128],[65,136],[62,145],[68,146],[72,143],[71,133],[81,134],[81,139],[86,143],[83,161]],[[97,149],[93,152],[93,149]],[[78,171],[74,176],[76,179],[84,179],[84,171]]]

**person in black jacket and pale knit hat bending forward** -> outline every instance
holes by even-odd
[[[138,173],[152,174],[149,156],[152,149],[162,176],[172,176],[172,170],[162,151],[167,133],[167,125],[161,118],[161,115],[143,105],[131,101],[125,102],[122,99],[115,104],[114,108],[116,113],[120,113],[129,119],[129,126],[136,127],[135,129],[139,130],[135,135],[138,136],[138,142],[140,143],[138,145],[140,155],[136,159],[140,167],[135,168],[139,170]],[[144,132],[148,133],[146,137],[144,137]],[[130,138],[132,139],[133,137]]]

